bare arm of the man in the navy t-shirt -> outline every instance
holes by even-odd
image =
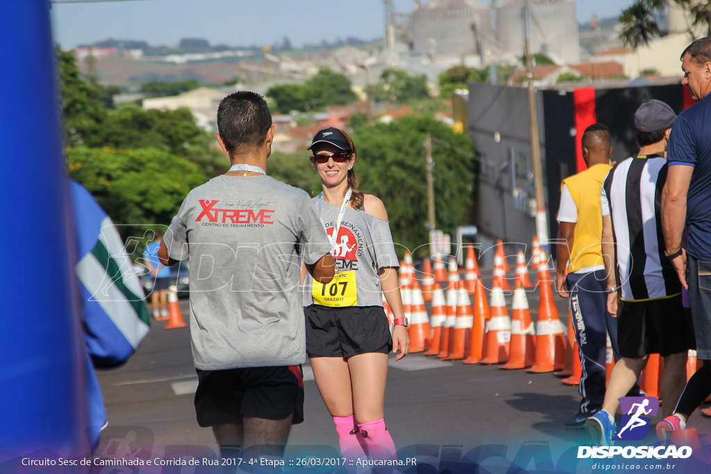
[[[669,166],[667,181],[662,191],[662,230],[666,251],[670,254],[681,248],[681,240],[686,222],[686,195],[691,182],[693,166]],[[686,253],[671,261],[679,280],[688,289],[685,277]]]

